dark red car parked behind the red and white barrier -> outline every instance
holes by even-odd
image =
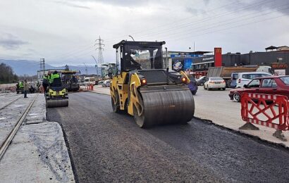
[[[289,76],[270,76],[258,77],[249,84],[245,84],[244,88],[236,88],[230,90],[230,99],[240,101],[243,92],[253,94],[280,94],[289,98]]]

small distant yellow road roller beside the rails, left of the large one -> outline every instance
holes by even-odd
[[[63,86],[61,78],[54,79],[45,92],[47,108],[67,107],[68,91]]]

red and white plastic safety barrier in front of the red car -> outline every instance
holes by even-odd
[[[289,130],[289,101],[287,96],[243,93],[241,115],[246,122],[240,130],[259,130],[253,124],[276,129],[274,137],[287,141],[282,131]]]

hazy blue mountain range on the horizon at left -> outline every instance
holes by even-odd
[[[37,75],[37,70],[40,70],[40,63],[38,61],[27,61],[27,60],[6,60],[0,59],[0,63],[10,65],[16,75]],[[85,65],[68,65],[70,70],[80,70],[80,74],[86,74]],[[64,69],[63,66],[53,66],[45,63],[45,69]],[[99,69],[99,75],[101,68]],[[87,74],[97,74],[97,70],[94,65],[87,65]]]

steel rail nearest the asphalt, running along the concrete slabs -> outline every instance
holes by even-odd
[[[4,139],[4,141],[2,142],[1,146],[0,146],[0,160],[1,158],[4,156],[6,150],[8,149],[8,146],[10,145],[11,141],[13,140],[13,138],[15,137],[16,133],[19,130],[19,127],[22,125],[23,120],[25,120],[26,115],[28,114],[28,112],[30,111],[30,108],[32,107],[33,103],[35,102],[35,100],[37,99],[37,96],[39,94],[37,94],[35,96],[35,98],[31,101],[31,103],[29,104],[29,106],[26,108],[25,112],[23,113],[23,115],[21,115],[21,117],[19,118],[19,120],[16,122],[16,125],[13,127],[13,129],[11,130],[11,132],[8,134],[8,136],[6,137],[6,139]],[[19,97],[20,98],[20,97]],[[16,100],[15,100],[16,101]],[[12,103],[12,102],[11,102]]]

